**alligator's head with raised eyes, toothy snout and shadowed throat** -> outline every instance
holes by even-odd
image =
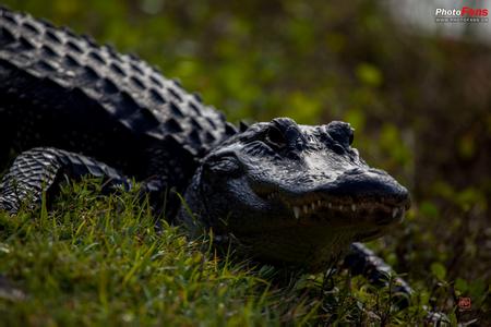
[[[405,187],[370,168],[348,123],[256,123],[209,153],[178,219],[230,237],[254,257],[319,269],[348,245],[387,232],[409,207]]]

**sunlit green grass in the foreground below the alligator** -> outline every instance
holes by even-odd
[[[209,237],[155,228],[135,192],[98,195],[85,181],[50,210],[0,214],[4,325],[280,325],[421,323],[423,299],[391,306],[346,271],[325,278],[254,266]],[[333,287],[334,286],[334,287]],[[427,300],[428,302],[428,300]]]

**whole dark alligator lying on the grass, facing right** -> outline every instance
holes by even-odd
[[[156,215],[259,262],[320,271],[348,253],[375,281],[390,270],[358,242],[398,226],[409,194],[346,122],[236,126],[137,57],[5,8],[0,99],[1,210],[37,208],[67,180],[136,181]]]

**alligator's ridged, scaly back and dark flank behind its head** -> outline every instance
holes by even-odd
[[[60,147],[141,178],[182,169],[233,133],[142,60],[4,8],[0,99],[0,148]]]

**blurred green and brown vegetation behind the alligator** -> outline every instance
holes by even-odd
[[[414,199],[372,245],[436,304],[489,310],[489,44],[409,33],[385,1],[2,2],[137,53],[232,122],[350,122],[367,161]]]

